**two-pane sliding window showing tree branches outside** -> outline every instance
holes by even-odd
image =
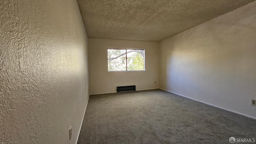
[[[108,71],[145,70],[145,50],[108,49]]]

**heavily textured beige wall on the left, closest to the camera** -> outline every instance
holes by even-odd
[[[76,0],[1,0],[0,36],[0,144],[74,144],[88,100]]]

